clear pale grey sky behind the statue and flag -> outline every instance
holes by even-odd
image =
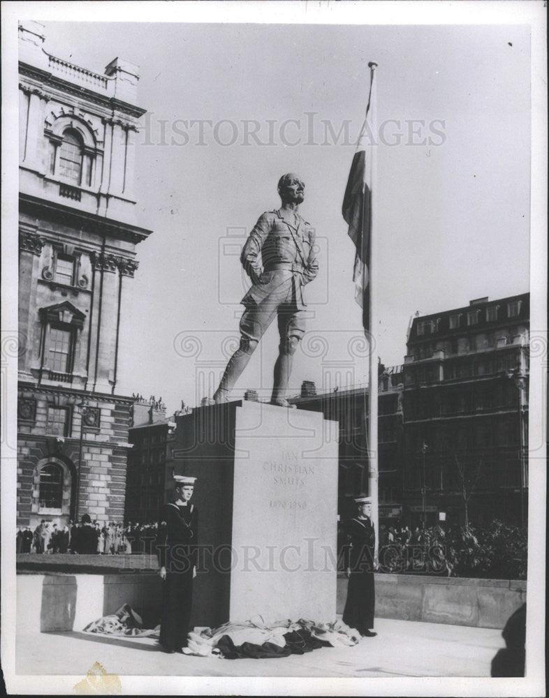
[[[170,413],[213,393],[238,337],[240,247],[279,207],[284,172],[305,181],[321,265],[290,392],[367,380],[341,205],[368,61],[381,129],[376,354],[404,362],[416,312],[529,290],[526,25],[44,24],[54,56],[98,73],[116,56],[140,66],[136,211],[153,233],[124,298],[121,394],[161,396]],[[235,397],[268,396],[277,345],[273,325]]]

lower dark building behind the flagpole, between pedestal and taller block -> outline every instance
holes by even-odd
[[[402,366],[380,366],[379,373],[379,518],[390,524],[402,515]],[[305,381],[300,396],[290,401],[339,422],[338,512],[340,519],[348,519],[356,512],[353,498],[368,492],[367,387],[316,394],[314,384]]]

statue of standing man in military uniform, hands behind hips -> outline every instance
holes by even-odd
[[[281,207],[265,211],[242,248],[240,261],[252,285],[241,301],[245,310],[240,319],[240,346],[214,394],[216,403],[228,401],[237,378],[276,317],[280,343],[270,402],[295,407],[286,400],[286,390],[293,355],[305,334],[303,286],[319,272],[314,228],[298,213],[304,191],[305,184],[296,174],[284,174],[278,183]]]

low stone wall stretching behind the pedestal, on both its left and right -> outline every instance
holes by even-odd
[[[83,562],[83,560],[82,560]],[[376,616],[404,621],[503,628],[526,600],[525,581],[376,574]],[[342,614],[347,579],[337,577],[337,613]],[[115,574],[17,574],[17,632],[82,630],[127,603],[145,627],[159,623],[162,582],[153,570]]]

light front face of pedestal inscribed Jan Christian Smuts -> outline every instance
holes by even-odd
[[[319,413],[237,408],[231,620],[335,618],[337,443],[327,431]]]

